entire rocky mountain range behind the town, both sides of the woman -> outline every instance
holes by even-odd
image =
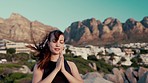
[[[7,19],[0,18],[0,39],[32,43],[40,41],[47,32],[58,29],[39,21],[30,21],[12,13]],[[73,45],[106,45],[128,42],[148,42],[148,16],[141,21],[133,18],[121,23],[116,18],[103,22],[95,18],[73,22],[65,29],[66,43]]]

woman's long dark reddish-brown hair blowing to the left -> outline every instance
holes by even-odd
[[[38,57],[37,64],[38,68],[40,69],[46,68],[48,66],[47,63],[50,61],[51,51],[49,49],[48,42],[50,42],[50,38],[52,35],[54,35],[55,41],[58,41],[59,36],[64,35],[64,33],[61,32],[60,30],[53,30],[43,39],[41,43],[35,44],[35,47],[31,47],[37,52],[36,55],[36,57]]]

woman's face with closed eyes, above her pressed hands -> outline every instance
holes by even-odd
[[[60,35],[59,39],[56,41],[55,36],[51,35],[48,46],[52,54],[57,55],[59,53],[62,53],[64,49],[64,36]]]

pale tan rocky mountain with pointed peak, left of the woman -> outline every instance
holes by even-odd
[[[8,19],[0,18],[0,39],[12,41],[32,42],[40,41],[41,37],[57,28],[44,25],[38,21],[31,22],[27,18],[12,13]]]

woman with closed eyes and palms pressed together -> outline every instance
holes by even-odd
[[[61,31],[51,31],[33,49],[38,52],[39,60],[34,66],[32,83],[83,83],[76,65],[64,60],[64,34]]]

